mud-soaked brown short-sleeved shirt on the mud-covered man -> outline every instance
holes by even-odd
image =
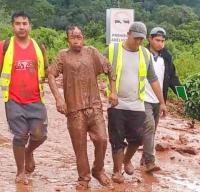
[[[99,74],[115,75],[106,57],[94,47],[83,47],[80,52],[61,50],[49,67],[55,77],[63,74],[64,97],[67,112],[90,107],[102,107],[97,83]]]

